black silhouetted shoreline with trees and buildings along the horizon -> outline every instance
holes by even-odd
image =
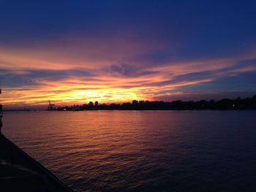
[[[123,104],[89,104],[59,107],[55,110],[256,110],[256,95],[252,98],[222,99],[219,101],[137,101]]]

